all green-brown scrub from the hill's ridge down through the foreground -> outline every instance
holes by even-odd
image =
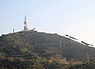
[[[0,37],[0,69],[94,69],[94,53],[58,34],[21,31]]]

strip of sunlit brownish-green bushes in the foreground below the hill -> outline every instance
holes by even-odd
[[[58,61],[42,60],[21,60],[18,58],[1,58],[0,69],[95,69],[95,62],[71,64],[60,63]]]

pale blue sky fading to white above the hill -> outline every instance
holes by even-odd
[[[0,35],[28,28],[68,34],[95,47],[95,0],[0,0]]]

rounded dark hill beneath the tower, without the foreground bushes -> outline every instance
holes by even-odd
[[[66,58],[68,61],[95,59],[95,48],[58,34],[21,31],[0,36],[0,56]]]

